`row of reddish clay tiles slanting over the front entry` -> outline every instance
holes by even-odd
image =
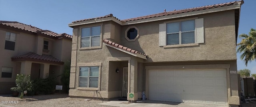
[[[138,51],[136,51],[136,50],[132,50],[131,48],[127,48],[127,47],[125,47],[125,46],[119,45],[119,44],[117,44],[117,43],[115,43],[115,42],[112,42],[112,41],[110,41],[110,40],[106,40],[106,39],[105,39],[105,40],[103,40],[103,42],[106,43],[106,44],[109,44],[109,45],[111,45],[111,46],[114,46],[114,47],[116,47],[116,48],[119,48],[119,49],[121,49],[121,50],[125,50],[125,51],[127,51],[127,52],[131,52],[131,53],[134,53],[134,54],[141,54],[141,55],[144,55],[144,56],[148,57],[148,55],[146,55],[146,54],[143,54],[143,53],[138,52]]]

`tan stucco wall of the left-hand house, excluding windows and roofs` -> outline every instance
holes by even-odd
[[[16,43],[15,43],[15,50],[5,50],[5,36],[6,32],[12,32],[16,34]],[[43,53],[43,40],[49,40],[49,52]],[[60,39],[60,41],[63,42],[56,42],[58,40],[47,38],[44,36],[38,36],[38,35],[32,35],[27,34],[24,32],[16,31],[16,30],[10,30],[6,28],[0,28],[0,87],[6,85],[4,82],[12,83],[11,85],[15,85],[14,80],[17,73],[20,73],[20,68],[22,67],[22,64],[20,62],[11,61],[11,57],[16,55],[23,55],[28,52],[34,52],[37,54],[48,54],[53,55],[52,52],[55,52],[56,58],[59,60],[70,60],[70,54],[71,54],[71,40],[66,39]],[[59,45],[60,44],[60,45]],[[64,45],[62,45],[64,44]],[[62,51],[54,50],[53,46],[60,46]],[[61,53],[64,53],[63,55]],[[24,63],[23,63],[24,64]],[[31,66],[31,65],[30,65]],[[12,72],[12,78],[2,78],[2,67],[13,67]],[[35,69],[33,67],[32,69]],[[29,69],[29,71],[31,68]],[[63,71],[63,69],[61,69]],[[60,71],[61,71],[60,70]],[[35,74],[36,75],[36,74]],[[4,89],[1,89],[0,93],[9,93],[10,88],[9,87],[3,87]]]

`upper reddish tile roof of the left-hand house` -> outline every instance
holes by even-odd
[[[41,33],[41,34],[45,34],[47,36],[52,36],[52,37],[67,37],[67,38],[72,38],[71,35],[63,33],[63,34],[57,34],[55,32],[49,31],[49,30],[42,30],[40,28],[36,28],[34,26],[31,25],[26,25],[26,24],[22,24],[20,22],[14,22],[14,21],[2,21],[0,20],[0,24],[5,25],[5,26],[11,26],[13,28],[18,28],[20,30],[25,30],[25,31],[29,31],[29,32],[33,32],[33,33]]]

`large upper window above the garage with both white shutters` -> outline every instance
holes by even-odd
[[[203,18],[159,24],[159,46],[193,43],[204,43]]]

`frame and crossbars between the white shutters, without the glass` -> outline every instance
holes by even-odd
[[[191,30],[191,31],[184,31],[182,32],[182,22],[185,22],[185,21],[190,21],[190,20],[182,20],[182,21],[177,21],[179,23],[179,32],[174,32],[174,33],[167,33],[167,24],[171,24],[171,23],[177,23],[177,22],[170,22],[170,23],[166,23],[166,46],[170,46],[168,45],[168,40],[167,40],[167,36],[168,34],[179,34],[179,44],[172,44],[172,45],[183,45],[182,44],[182,33],[186,33],[186,32],[194,32],[194,43],[188,43],[188,44],[195,44],[196,43],[196,20],[193,19],[194,21],[194,30]]]

